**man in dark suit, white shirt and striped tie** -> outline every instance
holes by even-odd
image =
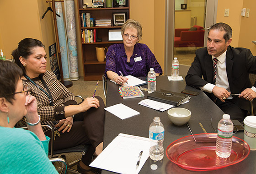
[[[229,46],[231,36],[229,25],[211,26],[207,47],[196,51],[186,83],[203,90],[231,119],[242,121],[250,111],[249,101],[256,97],[256,83],[252,86],[249,80],[249,73],[256,73],[256,57],[249,49]]]

